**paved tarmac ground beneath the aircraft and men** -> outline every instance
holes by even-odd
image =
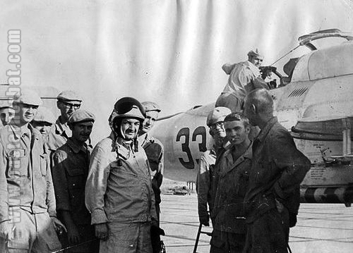
[[[167,253],[193,252],[198,232],[197,195],[162,195],[160,226]],[[211,232],[212,228],[203,230]],[[201,234],[197,252],[209,252],[210,237]],[[353,207],[344,204],[301,204],[291,229],[293,253],[353,252]]]

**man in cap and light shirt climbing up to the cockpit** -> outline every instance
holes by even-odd
[[[227,85],[218,97],[215,107],[225,106],[232,112],[241,112],[244,110],[244,98],[252,90],[263,88],[268,90],[265,80],[261,78],[260,70],[263,56],[258,52],[251,50],[248,53],[248,61],[222,66],[222,70],[229,75]]]

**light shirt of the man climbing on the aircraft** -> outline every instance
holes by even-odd
[[[256,88],[262,87],[268,90],[268,86],[260,76],[260,70],[250,61],[225,64],[222,68],[229,74],[227,85],[222,93],[237,93],[239,97],[244,98]]]

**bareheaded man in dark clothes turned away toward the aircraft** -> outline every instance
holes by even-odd
[[[299,185],[311,163],[273,116],[273,99],[266,90],[248,94],[244,113],[261,129],[253,142],[244,200],[248,225],[244,252],[287,253],[289,227],[297,222]]]

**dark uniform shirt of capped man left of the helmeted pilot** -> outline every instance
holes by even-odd
[[[53,154],[52,170],[56,209],[70,211],[76,224],[90,224],[90,213],[85,206],[85,183],[90,165],[91,149],[78,146],[71,137]]]

